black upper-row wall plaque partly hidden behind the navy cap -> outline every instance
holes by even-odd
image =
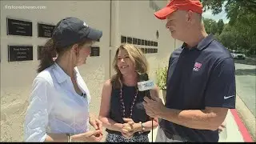
[[[53,25],[38,23],[38,37],[51,38],[54,27]]]

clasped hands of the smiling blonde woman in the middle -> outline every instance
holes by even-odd
[[[124,124],[122,124],[122,136],[124,136],[127,139],[130,139],[134,136],[134,133],[136,132],[135,128],[134,128],[134,120],[131,118],[123,118],[123,120],[126,122]]]

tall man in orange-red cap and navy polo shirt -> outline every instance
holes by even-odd
[[[146,114],[161,120],[156,142],[218,142],[218,126],[235,108],[229,50],[206,33],[198,0],[172,0],[154,15],[184,42],[170,56],[166,104],[154,95],[144,98]]]

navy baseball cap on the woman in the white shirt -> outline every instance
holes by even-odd
[[[56,46],[66,47],[82,42],[86,38],[98,41],[102,38],[102,31],[91,28],[79,18],[68,17],[58,22],[52,38],[54,38]]]

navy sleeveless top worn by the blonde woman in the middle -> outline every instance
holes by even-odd
[[[112,92],[111,92],[111,98],[110,98],[110,114],[109,118],[113,119],[115,122],[118,123],[124,123],[122,120],[122,104],[120,102],[120,89],[114,89],[112,86]],[[123,102],[126,108],[126,118],[130,116],[130,106],[132,105],[134,101],[134,95],[136,93],[136,87],[135,86],[126,86],[123,84],[122,86],[122,98]],[[144,109],[144,106],[142,102],[144,101],[145,92],[138,91],[138,96],[136,98],[136,101],[134,102],[133,107],[133,114],[132,119],[135,123],[138,122],[147,122],[150,120],[150,117],[146,115],[146,110]],[[121,134],[118,131],[108,130],[106,129],[106,132],[110,134]],[[146,131],[142,134],[149,134],[150,131]],[[134,135],[137,135],[138,133],[135,133]]]

